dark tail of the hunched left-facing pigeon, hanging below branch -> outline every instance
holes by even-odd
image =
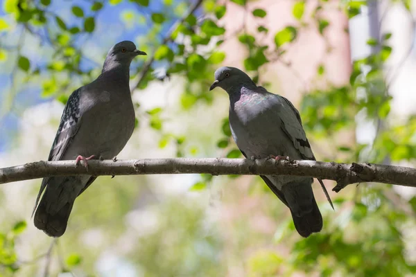
[[[291,209],[297,233],[307,238],[322,230],[322,215],[313,196],[311,180],[294,181],[281,188]]]

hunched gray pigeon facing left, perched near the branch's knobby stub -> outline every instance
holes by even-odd
[[[229,95],[229,127],[244,157],[261,159],[275,155],[276,159],[315,160],[300,114],[289,100],[257,87],[247,74],[229,66],[215,72],[209,90],[216,87]],[[322,215],[313,196],[312,178],[279,175],[261,178],[291,209],[296,230],[302,237],[321,231]],[[319,181],[324,188],[322,180]],[[329,199],[325,188],[324,192]]]

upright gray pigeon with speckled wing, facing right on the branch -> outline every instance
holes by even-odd
[[[129,80],[130,62],[137,55],[146,53],[132,42],[119,42],[108,52],[101,75],[73,91],[48,161],[76,160],[78,166],[83,160],[87,168],[89,159],[112,159],[121,152],[135,127]],[[63,235],[73,202],[95,179],[90,175],[44,178],[35,204],[35,226],[51,237]]]

